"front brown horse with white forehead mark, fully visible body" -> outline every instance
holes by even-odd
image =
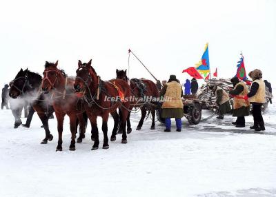
[[[130,103],[129,101],[121,101],[124,94],[125,98],[130,96],[130,87],[126,81],[113,79],[110,81],[101,81],[94,68],[91,66],[91,60],[88,63],[79,61],[77,69],[77,77],[74,84],[76,92],[83,95],[85,109],[90,119],[92,133],[94,134],[94,145],[92,149],[99,148],[99,132],[97,127],[97,116],[103,119],[103,149],[108,149],[108,116],[111,114],[115,120],[115,126],[112,131],[111,141],[116,140],[117,126],[119,117],[117,108],[121,114],[121,125],[123,135],[121,143],[127,143],[126,136],[126,118],[128,116]],[[116,99],[114,99],[116,98]],[[118,99],[119,98],[119,99]],[[113,99],[113,101],[112,101]]]

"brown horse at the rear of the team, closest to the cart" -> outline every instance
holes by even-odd
[[[124,81],[128,81],[126,70],[116,70],[116,75],[117,75],[117,79],[123,79]],[[141,86],[144,86],[144,87],[141,87]],[[131,79],[130,89],[131,89],[131,96],[136,98],[135,100],[141,100],[144,98],[144,96],[146,97],[148,96],[148,98],[150,98],[150,96],[152,96],[152,98],[159,98],[159,90],[157,88],[157,85],[147,79],[141,79],[141,80]],[[137,101],[135,100],[132,99],[132,102],[130,103],[130,110],[132,110],[133,107],[141,107],[141,114],[142,114],[136,130],[140,130],[141,127],[143,126],[147,110],[149,110],[152,114],[152,123],[151,123],[150,129],[155,129],[155,108],[149,105],[150,103],[155,103],[155,102],[147,103],[146,101],[142,101],[137,103]],[[144,103],[145,105],[141,106],[141,103]],[[132,129],[130,125],[130,114],[128,114],[127,121],[128,121],[128,132],[131,132]]]

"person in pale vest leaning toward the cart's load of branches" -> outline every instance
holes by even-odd
[[[219,116],[218,119],[224,119],[224,114],[230,112],[230,98],[225,90],[217,85],[211,85],[210,90],[213,90],[214,95],[217,97],[216,103],[219,106]]]

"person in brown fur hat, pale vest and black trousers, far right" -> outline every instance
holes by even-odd
[[[254,119],[254,125],[250,129],[255,129],[255,131],[264,131],[264,119],[262,116],[262,105],[266,103],[266,85],[262,81],[262,71],[255,69],[248,74],[253,83],[250,87],[250,92],[244,97],[253,106],[252,114]]]

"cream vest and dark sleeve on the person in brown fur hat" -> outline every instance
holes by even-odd
[[[266,103],[266,85],[264,81],[262,79],[253,81],[247,96],[250,103]]]

